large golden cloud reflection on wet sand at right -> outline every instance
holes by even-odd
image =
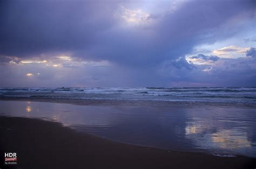
[[[216,123],[211,123],[207,120],[188,122],[185,127],[185,138],[191,139],[193,144],[206,150],[220,149],[224,150],[224,152],[235,152],[252,146],[247,136],[247,131],[250,129],[246,127],[216,128]]]

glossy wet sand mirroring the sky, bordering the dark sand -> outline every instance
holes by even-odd
[[[58,121],[78,131],[125,143],[256,157],[254,109],[18,101],[0,101],[0,107],[5,115]]]

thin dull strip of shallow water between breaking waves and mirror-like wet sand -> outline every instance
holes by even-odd
[[[151,107],[237,107],[237,108],[256,108],[253,103],[221,103],[221,102],[178,102],[178,101],[152,101],[152,100],[98,100],[81,98],[44,98],[44,97],[12,97],[0,96],[0,101],[31,101],[65,103],[75,105],[134,105]]]

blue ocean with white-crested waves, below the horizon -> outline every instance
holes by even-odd
[[[256,103],[256,87],[0,88],[0,97]]]

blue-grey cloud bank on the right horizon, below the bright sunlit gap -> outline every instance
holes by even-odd
[[[214,65],[195,65],[197,68],[176,68],[169,64],[162,69],[165,79],[183,86],[255,86],[256,59],[243,57],[238,59],[220,58]],[[173,68],[173,67],[174,68]]]

